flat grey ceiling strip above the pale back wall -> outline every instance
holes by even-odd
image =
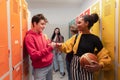
[[[29,8],[77,6],[85,0],[26,0]]]

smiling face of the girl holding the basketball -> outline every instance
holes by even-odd
[[[80,32],[88,31],[88,22],[85,22],[82,17],[78,18],[76,24]]]

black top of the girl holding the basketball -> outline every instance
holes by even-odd
[[[87,52],[94,53],[95,48],[97,52],[103,48],[99,37],[94,34],[82,34],[76,55],[81,56]]]

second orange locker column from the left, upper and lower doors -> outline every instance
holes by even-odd
[[[20,41],[20,1],[10,1],[10,27],[11,27],[11,48],[13,80],[22,80],[22,68],[18,66],[22,60]]]

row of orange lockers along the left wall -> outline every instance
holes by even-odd
[[[22,80],[23,38],[27,31],[25,0],[0,0],[0,80]]]

